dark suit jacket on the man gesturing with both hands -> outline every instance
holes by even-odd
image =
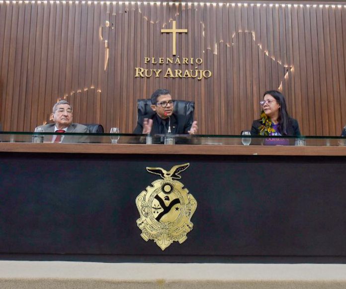
[[[142,116],[138,119],[137,126],[134,129],[133,133],[142,133],[143,131],[143,120],[144,118],[153,119],[153,126],[150,135],[159,134],[159,125],[156,119],[156,113]],[[188,124],[187,118],[184,115],[175,115],[171,116],[171,131],[173,134],[188,134],[191,125]]]

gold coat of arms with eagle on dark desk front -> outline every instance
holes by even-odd
[[[152,182],[136,198],[136,205],[141,217],[137,220],[142,238],[154,240],[165,250],[173,241],[180,244],[186,240],[186,234],[192,230],[191,217],[197,202],[188,193],[183,184],[176,179],[190,164],[174,166],[167,172],[162,168],[148,168],[149,173],[161,175],[163,179]]]

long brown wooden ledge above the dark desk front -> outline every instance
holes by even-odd
[[[0,143],[0,152],[248,156],[346,156],[346,146]]]

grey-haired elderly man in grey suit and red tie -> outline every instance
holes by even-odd
[[[79,123],[72,123],[73,111],[70,103],[61,100],[53,106],[52,118],[54,123],[39,126],[44,132],[76,132],[88,133],[89,129]],[[86,137],[67,137],[64,139],[62,135],[54,135],[52,142],[85,142]]]

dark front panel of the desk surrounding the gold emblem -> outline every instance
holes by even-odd
[[[162,251],[135,200],[183,163],[193,230]],[[345,260],[345,188],[345,157],[0,153],[0,254]]]

